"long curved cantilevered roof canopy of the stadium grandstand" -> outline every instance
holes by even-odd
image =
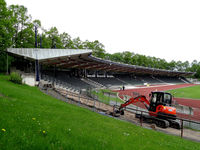
[[[110,72],[125,72],[133,74],[188,76],[194,72],[180,72],[164,69],[148,68],[128,65],[92,56],[92,50],[85,49],[39,49],[39,48],[8,48],[8,53],[39,60],[41,64],[57,66],[59,68],[79,68],[88,70],[102,70]]]

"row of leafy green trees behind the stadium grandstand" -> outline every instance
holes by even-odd
[[[37,43],[42,48],[59,48],[59,49],[92,49],[93,55],[102,59],[111,61],[145,66],[150,68],[167,69],[174,71],[196,72],[194,77],[200,78],[200,62],[194,60],[188,61],[171,61],[165,59],[150,57],[133,52],[124,51],[109,54],[105,51],[105,46],[98,40],[82,41],[79,37],[72,38],[68,33],[59,33],[56,27],[45,29],[42,27],[40,20],[32,20],[26,7],[22,5],[7,6],[5,0],[0,0],[0,71],[6,70],[6,48],[34,48],[35,47],[35,26],[42,33],[37,34]],[[15,59],[9,57],[9,62]]]

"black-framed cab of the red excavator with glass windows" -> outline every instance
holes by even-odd
[[[156,111],[158,105],[171,106],[172,95],[167,92],[151,92],[149,111]]]

